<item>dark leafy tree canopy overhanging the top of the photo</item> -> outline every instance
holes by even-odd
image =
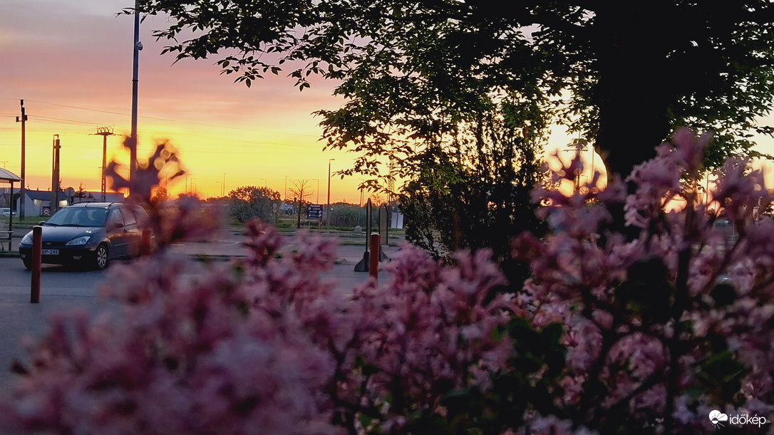
[[[754,155],[772,107],[774,5],[761,0],[616,2],[454,0],[143,0],[170,16],[159,39],[178,58],[217,55],[248,87],[284,63],[303,90],[339,80],[341,110],[320,110],[327,147],[379,174],[496,103],[522,97],[594,142],[628,174],[677,125],[716,132],[706,163]],[[131,12],[131,11],[127,11]],[[548,110],[545,107],[544,110]],[[548,112],[547,112],[548,113]],[[636,131],[633,135],[631,132]],[[625,148],[624,148],[625,147]],[[383,160],[383,159],[382,159]]]

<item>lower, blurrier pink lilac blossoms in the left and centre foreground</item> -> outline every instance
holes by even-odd
[[[59,314],[0,402],[5,430],[34,433],[410,431],[449,415],[442,399],[486,389],[512,314],[488,253],[447,267],[406,248],[392,282],[335,290],[335,246],[247,226],[250,256],[192,263],[161,250],[119,265],[120,302]],[[204,270],[203,270],[204,269]],[[449,418],[451,418],[449,416]]]

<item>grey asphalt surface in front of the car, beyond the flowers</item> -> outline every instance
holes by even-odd
[[[194,258],[231,260],[245,255],[241,240],[241,236],[226,234],[211,242],[180,243],[172,249]],[[385,252],[393,257],[397,249],[398,246],[388,246]],[[339,246],[337,264],[325,274],[337,280],[337,291],[351,292],[368,280],[367,273],[354,272],[354,265],[364,252],[363,245]],[[19,257],[0,257],[0,394],[9,389],[15,377],[10,372],[12,363],[28,360],[22,339],[28,337],[32,338],[28,342],[34,342],[35,338],[41,337],[47,330],[47,319],[51,314],[75,309],[87,309],[96,314],[119,308],[115,302],[98,297],[98,288],[109,284],[110,269],[95,271],[44,265],[40,274],[40,303],[30,304],[30,272]],[[192,267],[191,275],[196,274],[195,269]],[[384,273],[380,275],[380,280],[388,278]]]

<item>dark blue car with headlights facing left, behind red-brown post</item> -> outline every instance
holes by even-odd
[[[137,257],[148,215],[122,202],[80,202],[54,213],[43,226],[42,262],[102,270],[111,260]],[[19,243],[24,267],[32,267],[33,233]]]

